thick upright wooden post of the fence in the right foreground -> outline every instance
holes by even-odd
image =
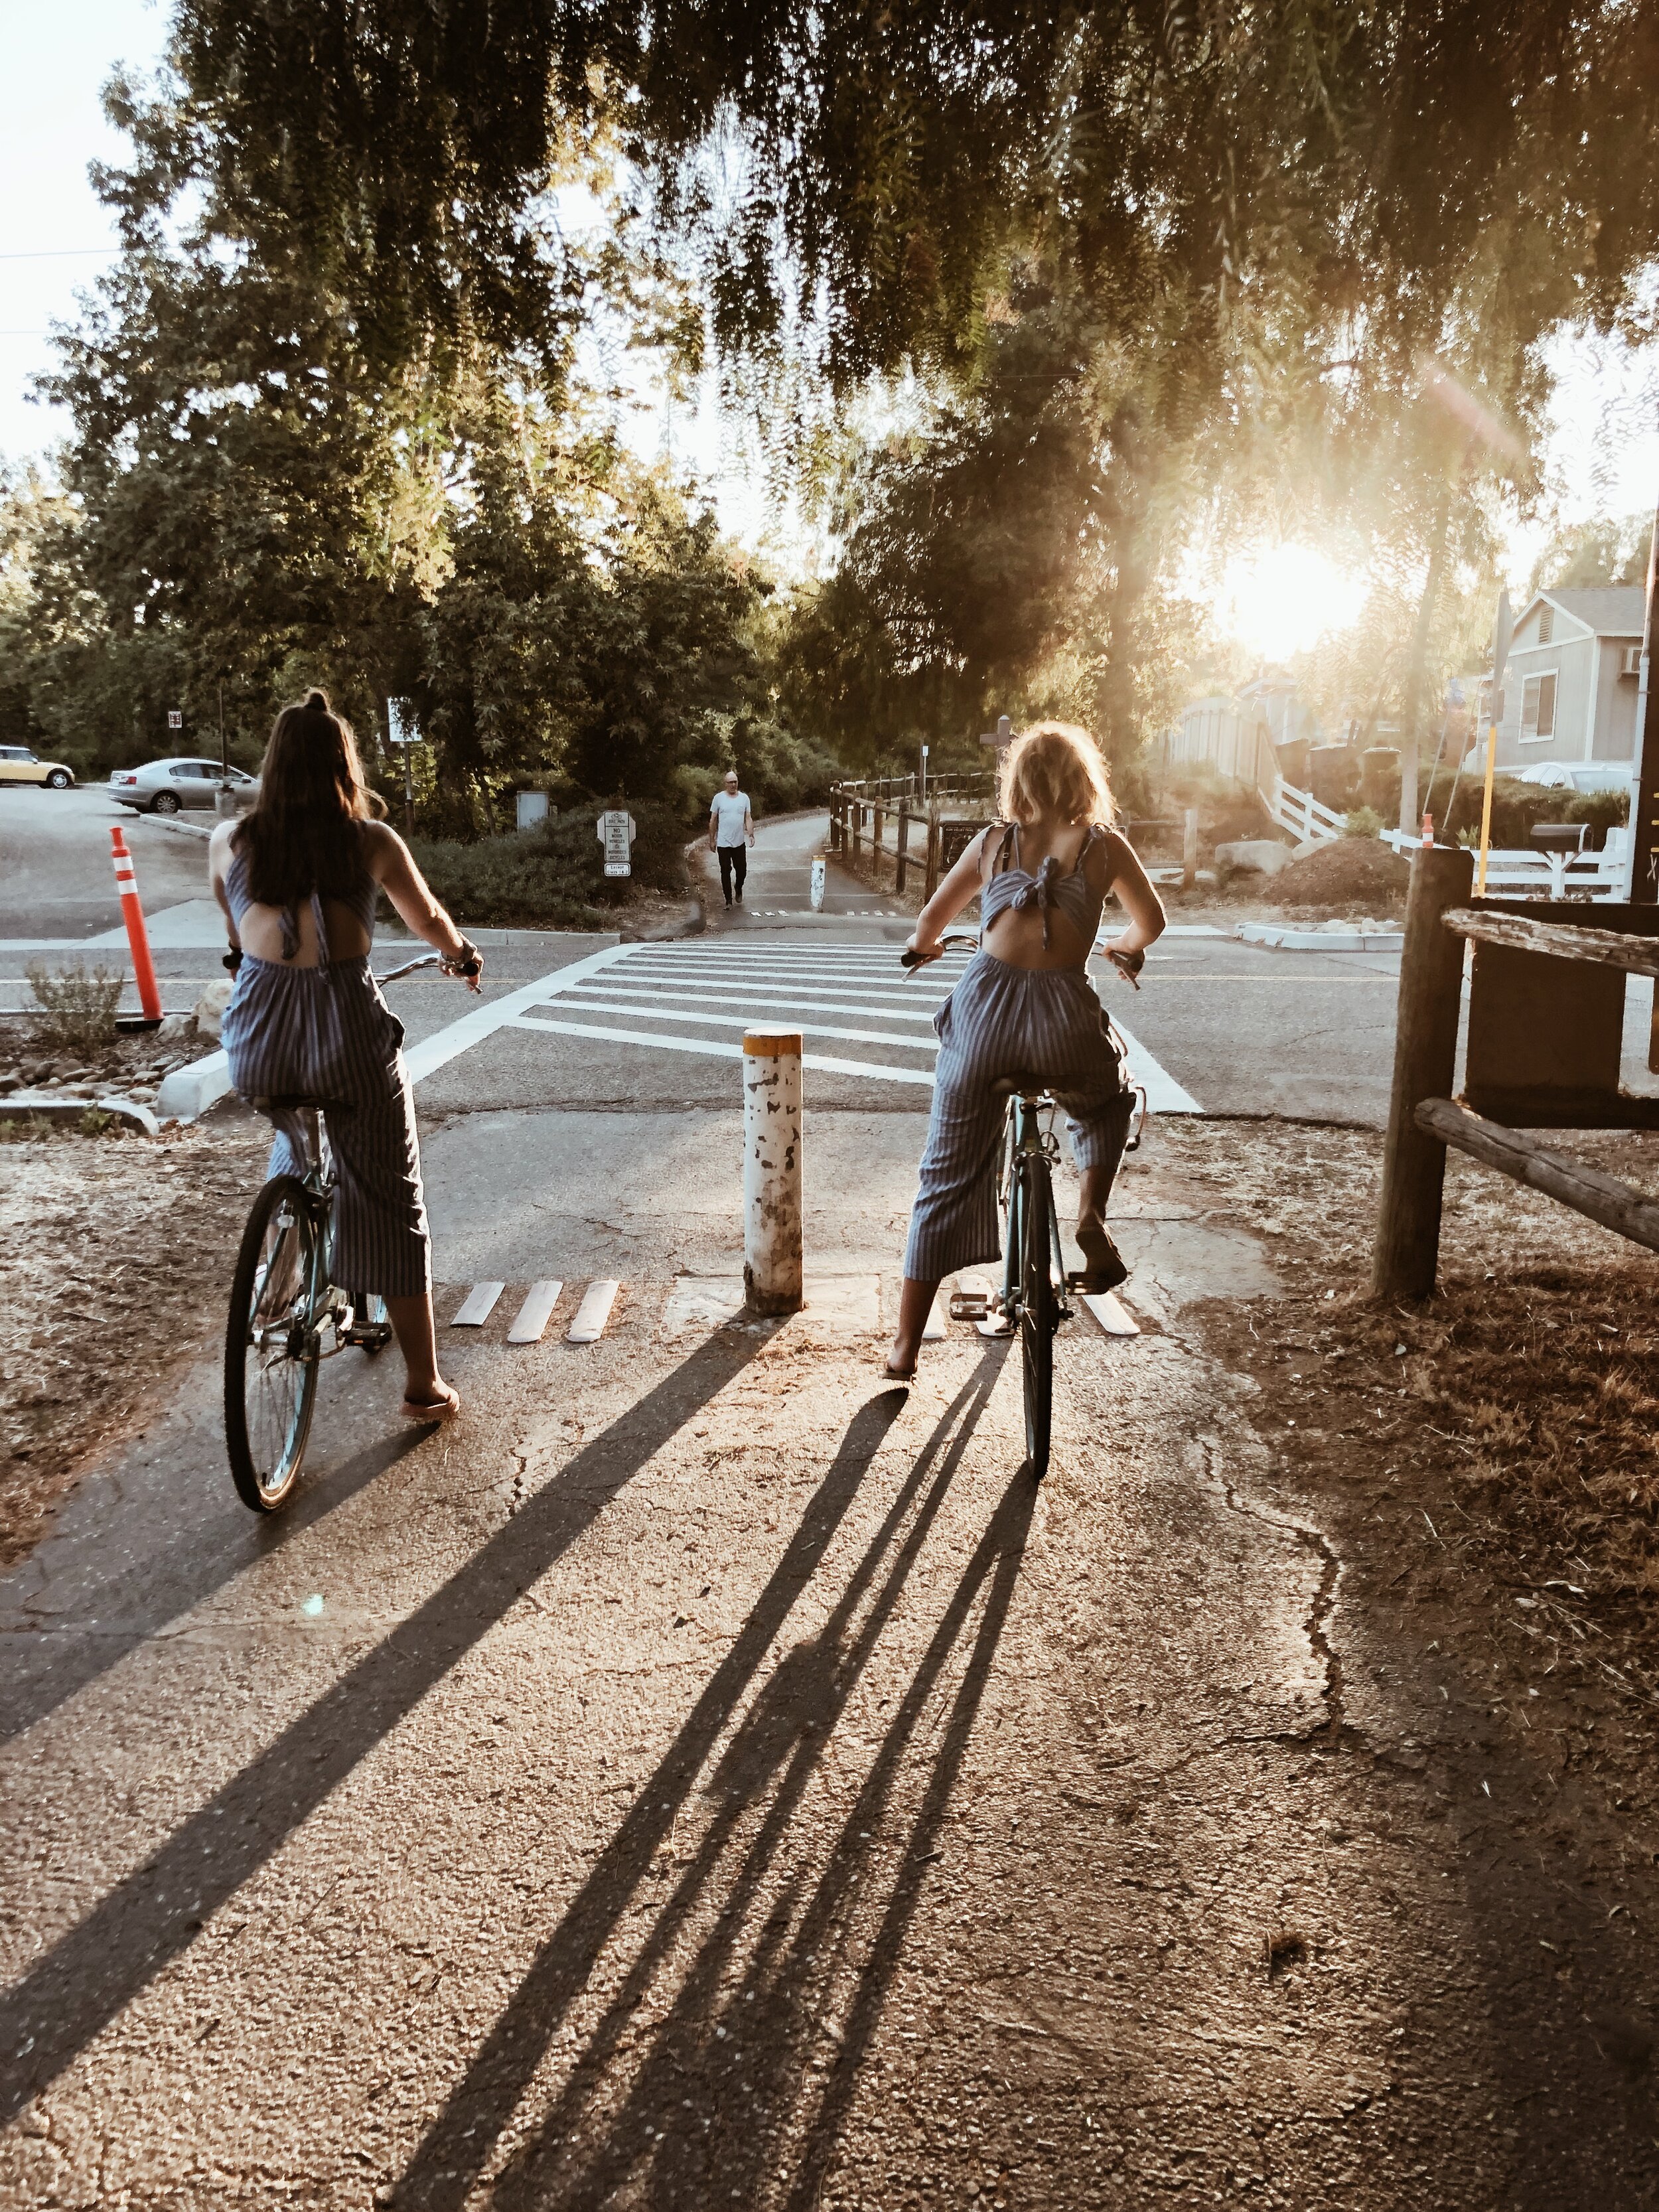
[[[1418,1128],[1422,1099],[1451,1097],[1462,1009],[1462,938],[1440,927],[1469,900],[1473,854],[1420,845],[1405,909],[1400,1000],[1394,1018],[1394,1095],[1383,1148],[1383,1203],[1371,1252],[1378,1298],[1427,1298],[1440,1263],[1440,1197],[1447,1148]]]

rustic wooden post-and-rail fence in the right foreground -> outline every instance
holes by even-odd
[[[1659,1128],[1659,1099],[1619,1084],[1624,980],[1659,975],[1659,907],[1473,902],[1473,867],[1471,852],[1447,845],[1420,847],[1411,863],[1371,1256],[1371,1287],[1385,1298],[1433,1290],[1449,1144],[1659,1252],[1652,1199],[1526,1135]],[[1451,1097],[1464,945],[1469,1040],[1464,1088]]]

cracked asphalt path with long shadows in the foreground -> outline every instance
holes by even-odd
[[[1646,2086],[1551,2073],[1646,1936],[1464,1834],[1340,1489],[1206,1349],[1270,1250],[1157,1133],[1148,1327],[1062,1336],[1040,1491],[969,1329],[909,1396],[810,1314],[670,1334],[730,1217],[577,1135],[535,1239],[628,1239],[597,1347],[502,1321],[438,1433],[338,1363],[274,1524],[197,1369],[0,1586],[0,2201],[1650,2201]],[[889,1307],[918,1137],[807,1126]]]

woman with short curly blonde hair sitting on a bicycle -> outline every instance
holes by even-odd
[[[940,931],[980,900],[980,951],[933,1018],[933,1117],[887,1358],[887,1374],[900,1383],[916,1371],[940,1281],[1000,1256],[995,1168],[1011,1077],[1040,1082],[1068,1113],[1082,1170],[1079,1287],[1113,1290],[1128,1274],[1106,1232],[1106,1201],[1135,1095],[1088,980],[1088,953],[1106,894],[1115,891],[1128,927],[1108,956],[1137,973],[1146,947],[1164,933],[1164,907],[1110,827],[1106,763],[1086,730],[1044,721],[1018,737],[1002,761],[1000,803],[1002,818],[969,845],[909,940],[922,960],[936,958]]]

